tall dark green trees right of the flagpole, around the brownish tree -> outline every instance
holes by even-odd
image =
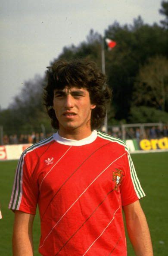
[[[109,26],[106,37],[117,41],[117,46],[106,59],[109,85],[113,89],[113,106],[116,119],[127,119],[132,105],[133,88],[141,65],[149,57],[167,55],[166,31],[158,25],[143,24],[140,17],[132,26],[118,23]],[[162,41],[163,40],[163,41]],[[155,43],[154,43],[155,42]]]

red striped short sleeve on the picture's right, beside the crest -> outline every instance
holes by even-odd
[[[136,200],[139,200],[145,196],[140,181],[137,177],[130,153],[127,149],[124,161],[124,177],[120,187],[123,206],[134,203]]]

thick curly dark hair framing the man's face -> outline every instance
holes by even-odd
[[[53,109],[53,91],[54,89],[63,90],[65,86],[84,88],[89,92],[91,104],[96,105],[91,112],[91,129],[100,128],[106,116],[111,91],[106,84],[106,76],[100,72],[96,63],[86,60],[56,61],[53,66],[47,68],[48,84],[44,88],[44,105],[53,128],[59,128]]]

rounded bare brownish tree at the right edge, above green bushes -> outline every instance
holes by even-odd
[[[149,58],[140,68],[134,85],[134,105],[166,109],[168,101],[168,59],[163,56]]]

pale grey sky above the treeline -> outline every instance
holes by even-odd
[[[162,19],[161,0],[1,0],[0,108],[19,95],[25,81],[44,76],[65,46],[78,46],[91,28],[104,35],[118,21],[139,15],[153,24]]]

